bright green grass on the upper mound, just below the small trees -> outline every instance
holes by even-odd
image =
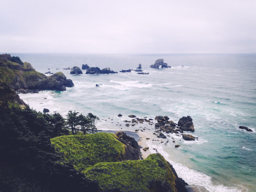
[[[125,145],[110,133],[61,136],[51,143],[80,171],[99,162],[121,161],[125,152]]]

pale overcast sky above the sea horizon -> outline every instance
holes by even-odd
[[[255,0],[8,0],[2,53],[256,53]]]

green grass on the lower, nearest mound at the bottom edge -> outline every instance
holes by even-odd
[[[160,154],[145,160],[97,163],[83,172],[102,191],[176,191],[175,176]]]

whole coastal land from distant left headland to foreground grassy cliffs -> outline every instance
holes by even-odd
[[[138,143],[123,132],[69,135],[59,114],[36,112],[15,93],[65,90],[66,80],[0,55],[1,191],[187,191],[160,154],[139,160]]]

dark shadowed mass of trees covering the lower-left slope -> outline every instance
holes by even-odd
[[[36,112],[28,106],[24,110],[0,107],[0,114],[1,192],[96,190],[97,183],[77,173],[51,145],[51,138],[70,134],[59,113]],[[76,132],[80,127],[81,122]]]

